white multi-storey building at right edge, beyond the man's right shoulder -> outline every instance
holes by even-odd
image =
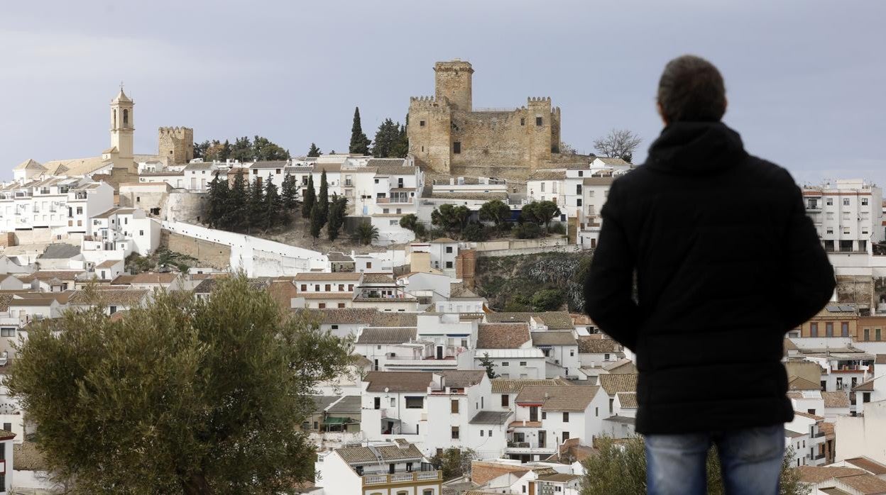
[[[806,214],[825,251],[873,253],[884,239],[882,189],[861,179],[803,188]]]

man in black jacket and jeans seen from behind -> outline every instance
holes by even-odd
[[[834,270],[790,174],[720,121],[715,66],[673,59],[657,100],[664,130],[602,208],[587,313],[636,353],[650,494],[704,493],[711,445],[727,493],[775,494],[784,334],[827,304]]]

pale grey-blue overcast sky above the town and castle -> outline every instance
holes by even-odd
[[[886,184],[886,2],[810,0],[51,0],[0,4],[0,159],[97,156],[120,81],[136,153],[157,128],[346,151],[354,106],[375,135],[433,93],[436,60],[474,66],[475,107],[549,96],[563,141],[661,124],[658,75],[683,53],[727,81],[725,120],[798,182]],[[639,161],[638,161],[639,162]]]

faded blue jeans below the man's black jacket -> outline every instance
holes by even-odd
[[[649,495],[707,493],[705,460],[717,445],[727,495],[777,495],[784,425],[646,437]]]

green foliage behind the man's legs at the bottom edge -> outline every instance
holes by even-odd
[[[598,452],[584,461],[581,495],[635,495],[646,493],[646,452],[642,437],[614,440],[596,439]],[[780,495],[808,495],[811,491],[799,481],[799,473],[791,468],[794,452],[788,449],[781,461]],[[708,493],[722,495],[723,479],[716,448],[708,452]]]

